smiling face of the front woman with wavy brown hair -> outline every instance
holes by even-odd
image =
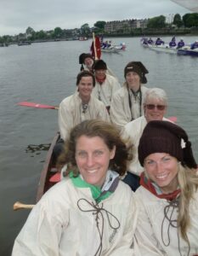
[[[110,160],[114,158],[116,148],[110,150],[101,137],[82,135],[76,141],[76,165],[83,179],[99,186],[105,183]]]

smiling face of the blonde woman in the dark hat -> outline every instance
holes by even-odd
[[[144,170],[162,193],[172,193],[178,188],[178,160],[167,153],[154,153],[144,160]]]

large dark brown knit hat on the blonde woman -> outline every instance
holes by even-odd
[[[184,148],[181,145],[182,139]],[[168,121],[150,121],[144,128],[139,140],[141,166],[144,166],[144,159],[154,153],[167,153],[181,161],[183,166],[197,167],[188,135],[184,129]]]

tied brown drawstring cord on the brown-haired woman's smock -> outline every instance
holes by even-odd
[[[81,202],[84,201],[86,203],[88,203],[89,206],[92,207],[91,210],[84,210],[82,209],[82,206],[80,206]],[[115,215],[113,215],[112,213],[110,213],[109,211],[105,210],[105,208],[103,208],[103,203],[101,204],[101,207],[99,207],[98,203],[94,204],[93,201],[90,202],[87,199],[81,198],[77,201],[77,207],[82,211],[82,212],[93,212],[93,215],[95,215],[95,221],[96,221],[96,226],[97,229],[99,231],[99,247],[96,251],[96,253],[94,254],[94,256],[99,256],[102,253],[102,248],[103,248],[103,231],[104,231],[104,213],[107,216],[108,219],[108,223],[110,225],[110,228],[114,231],[118,230],[121,226],[119,220],[116,218]],[[102,225],[101,225],[101,230],[99,230],[99,214],[102,218]],[[117,225],[114,227],[111,223],[110,223],[110,216],[113,217],[116,220]]]

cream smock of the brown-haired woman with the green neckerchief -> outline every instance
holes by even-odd
[[[33,207],[12,256],[140,256],[133,241],[139,214],[133,195],[119,181],[97,206],[89,188],[66,177]]]

